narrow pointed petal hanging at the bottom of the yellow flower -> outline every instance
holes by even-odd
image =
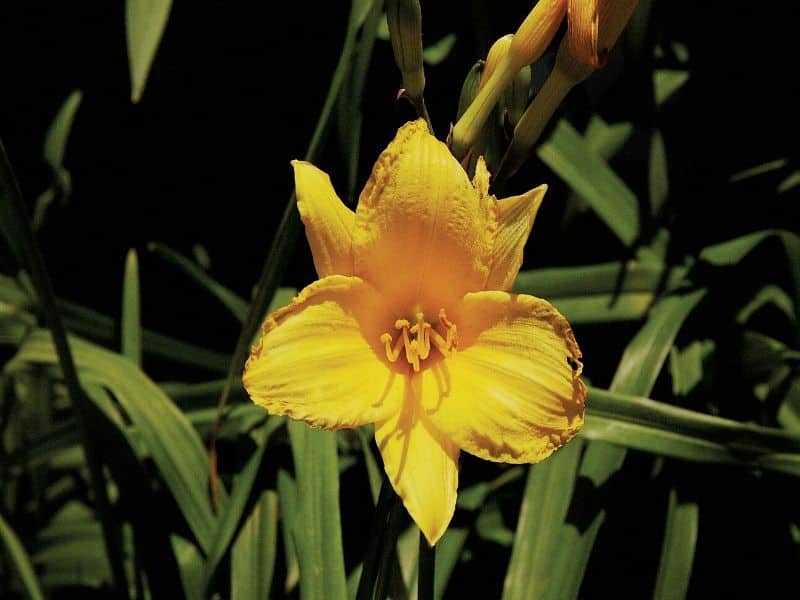
[[[375,423],[375,441],[394,491],[433,546],[455,511],[459,451],[421,414],[418,384],[406,378],[402,412]]]

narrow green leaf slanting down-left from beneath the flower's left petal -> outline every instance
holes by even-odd
[[[261,409],[258,409],[261,411]],[[216,412],[216,411],[215,411]],[[263,411],[261,411],[263,412]],[[256,475],[261,468],[261,463],[264,460],[264,452],[267,448],[267,441],[270,436],[275,432],[278,427],[283,425],[285,419],[281,417],[270,417],[267,423],[261,427],[255,434],[256,449],[250,460],[239,473],[233,487],[224,512],[219,518],[217,530],[214,535],[214,541],[211,549],[208,552],[208,561],[206,562],[206,577],[205,588],[209,589],[211,581],[217,570],[222,557],[228,551],[231,539],[236,532],[237,527],[242,519],[242,514],[247,505],[247,500],[253,492],[253,483],[256,480]],[[264,596],[266,597],[266,596]]]

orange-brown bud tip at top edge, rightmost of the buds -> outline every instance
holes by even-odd
[[[575,60],[602,67],[637,4],[638,0],[569,0],[567,38]]]

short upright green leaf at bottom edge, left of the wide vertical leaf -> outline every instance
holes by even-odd
[[[278,494],[267,490],[233,544],[231,599],[269,598],[278,538]]]

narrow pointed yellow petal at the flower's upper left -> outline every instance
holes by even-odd
[[[355,213],[336,195],[325,172],[300,160],[293,160],[292,166],[297,209],[306,226],[317,274],[352,275]]]

